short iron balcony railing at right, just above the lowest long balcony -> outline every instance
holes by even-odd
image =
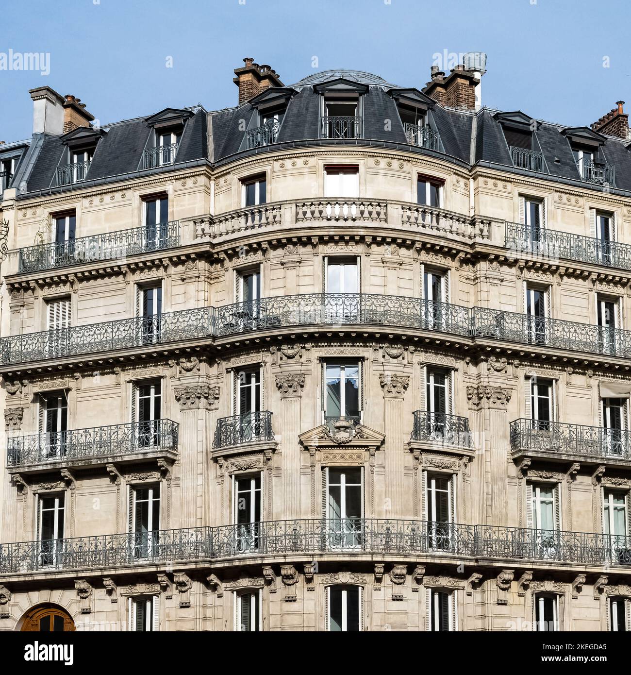
[[[510,423],[513,450],[631,459],[631,431],[520,418]]]

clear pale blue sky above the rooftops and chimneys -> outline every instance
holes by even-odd
[[[568,126],[631,110],[628,0],[20,0],[0,16],[0,59],[50,54],[47,76],[0,70],[7,142],[30,136],[30,88],[80,97],[101,124],[215,110],[236,104],[246,56],[285,84],[350,68],[422,88],[435,55],[485,51],[485,105]]]

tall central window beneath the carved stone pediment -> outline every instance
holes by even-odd
[[[361,543],[364,479],[361,466],[323,468],[323,519],[329,545],[354,548]]]

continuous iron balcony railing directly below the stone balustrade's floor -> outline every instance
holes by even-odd
[[[379,325],[631,358],[631,331],[409,296],[313,293],[0,339],[0,365],[294,326]]]

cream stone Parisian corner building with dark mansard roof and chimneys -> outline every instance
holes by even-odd
[[[631,158],[418,90],[0,144],[2,630],[630,630]],[[627,243],[629,242],[629,243]]]

